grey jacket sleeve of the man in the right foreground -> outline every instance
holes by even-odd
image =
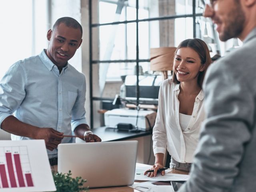
[[[250,127],[254,98],[240,71],[221,63],[206,76],[206,120],[195,153],[190,179],[179,192],[230,191],[239,174]]]

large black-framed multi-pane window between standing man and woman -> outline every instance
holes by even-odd
[[[138,87],[141,72],[153,73],[150,48],[175,47],[187,38],[204,37],[203,8],[203,0],[90,0],[92,128],[100,101],[114,98],[112,90],[120,88],[121,76],[135,74]],[[211,36],[211,27],[208,30]],[[106,82],[111,81],[117,87],[104,98]],[[139,91],[136,95],[138,102]]]

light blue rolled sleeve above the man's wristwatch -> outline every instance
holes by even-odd
[[[72,131],[75,130],[75,128],[80,125],[80,124],[88,124],[86,120],[86,111],[84,108],[85,104],[85,94],[86,94],[86,79],[85,76],[84,81],[78,90],[78,96],[76,98],[76,102],[72,108],[72,120],[71,120],[71,126],[72,126]]]

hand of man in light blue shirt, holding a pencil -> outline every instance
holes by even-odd
[[[53,128],[39,128],[35,139],[44,139],[46,148],[52,151],[61,143],[61,140],[63,139],[62,135],[63,133],[58,132]]]

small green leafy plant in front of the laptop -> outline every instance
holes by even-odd
[[[52,172],[56,192],[88,192],[87,187],[83,187],[86,180],[81,177],[72,178],[71,171],[68,173]]]

